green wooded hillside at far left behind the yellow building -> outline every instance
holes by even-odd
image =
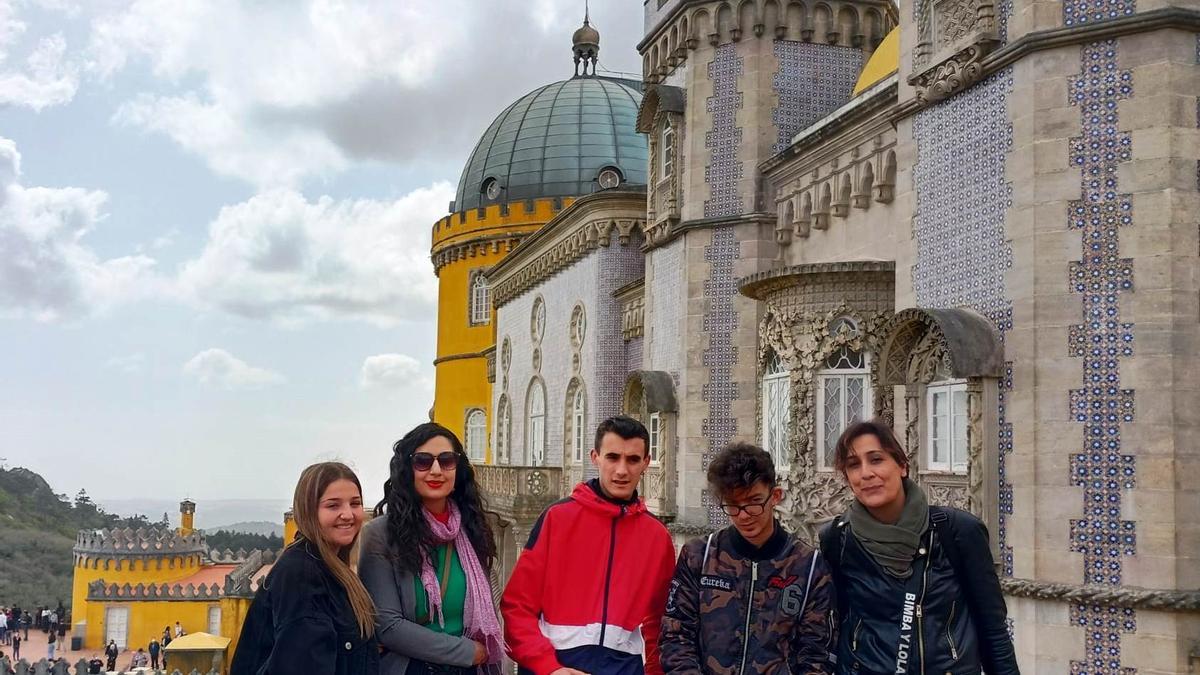
[[[71,500],[28,468],[0,467],[0,605],[70,607],[76,533],[151,525],[161,522],[106,513],[83,490]]]

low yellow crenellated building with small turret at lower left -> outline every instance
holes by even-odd
[[[178,530],[85,530],[76,537],[72,634],[84,649],[115,640],[144,647],[175,622],[187,633],[228,638],[229,653],[272,552],[209,550],[193,527],[196,503],[180,504]]]

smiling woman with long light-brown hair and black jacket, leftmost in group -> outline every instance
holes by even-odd
[[[374,675],[374,605],[350,569],[362,484],[344,464],[314,464],[300,474],[292,510],[299,536],[250,605],[230,675]]]

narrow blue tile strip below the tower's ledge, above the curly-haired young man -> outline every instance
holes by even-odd
[[[738,348],[733,344],[733,334],[738,327],[738,312],[733,307],[738,292],[733,262],[738,259],[738,251],[732,227],[713,229],[713,240],[704,246],[704,261],[709,264],[708,280],[704,281],[707,311],[703,318],[708,347],[701,356],[701,364],[708,368],[708,383],[701,392],[708,406],[708,416],[701,423],[701,434],[708,438],[708,450],[703,456],[706,470],[713,455],[738,432],[738,420],[733,417],[733,401],[738,398],[738,386],[733,381],[733,368],[738,363]],[[727,521],[720,504],[707,490],[703,504],[710,525]]]

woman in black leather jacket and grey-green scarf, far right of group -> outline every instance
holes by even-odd
[[[839,671],[1019,674],[983,522],[929,506],[884,423],[847,428],[834,466],[854,494],[821,532],[838,586]]]

